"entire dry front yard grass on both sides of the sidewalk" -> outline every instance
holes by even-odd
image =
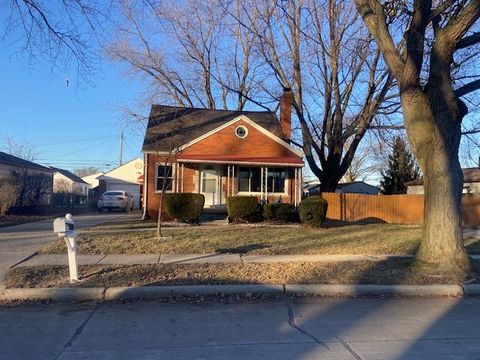
[[[415,254],[419,226],[368,224],[311,229],[301,226],[219,225],[166,227],[157,241],[153,222],[131,222],[80,230],[78,253],[331,255]],[[475,231],[465,236],[469,253],[480,254]],[[44,246],[42,254],[66,254],[63,239]],[[480,263],[474,262],[475,273]],[[149,286],[188,284],[455,284],[464,279],[429,274],[412,259],[348,262],[151,264],[80,266],[82,281],[68,282],[66,266],[11,269],[7,287]],[[476,278],[478,276],[475,275]],[[477,280],[473,280],[477,281]]]

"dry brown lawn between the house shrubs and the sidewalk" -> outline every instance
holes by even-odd
[[[84,232],[78,236],[80,254],[248,253],[248,254],[414,254],[420,241],[418,226],[370,224],[308,229],[302,227],[216,226],[165,229],[168,239],[157,241],[154,231]],[[110,229],[112,230],[112,229]],[[41,253],[64,253],[57,240]]]

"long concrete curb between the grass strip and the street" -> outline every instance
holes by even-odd
[[[92,288],[11,288],[0,291],[0,301],[52,300],[115,301],[162,299],[174,296],[316,295],[322,297],[466,297],[480,296],[473,285],[183,285]]]

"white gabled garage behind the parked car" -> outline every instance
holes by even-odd
[[[135,158],[106,173],[84,176],[93,197],[98,199],[105,191],[124,190],[133,196],[133,207],[140,209],[143,189],[143,160]]]

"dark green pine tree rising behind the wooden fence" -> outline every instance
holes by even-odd
[[[405,183],[418,179],[420,171],[402,138],[394,138],[392,155],[388,158],[388,167],[382,171],[383,180],[380,181],[382,193],[405,194],[407,192]]]

